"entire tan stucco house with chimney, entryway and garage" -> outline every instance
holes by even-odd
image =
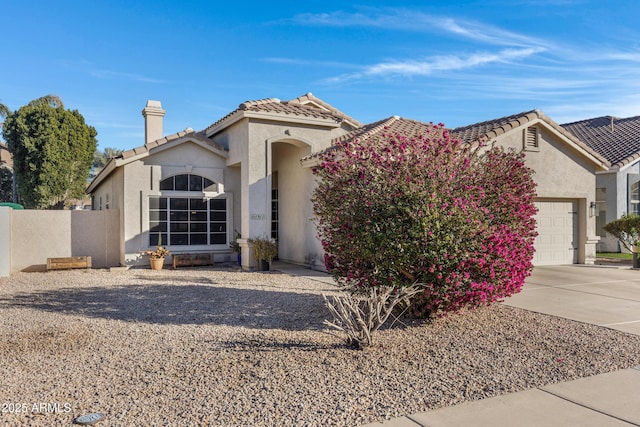
[[[120,215],[120,263],[162,243],[172,251],[233,259],[242,235],[242,264],[254,266],[247,238],[273,237],[279,258],[324,269],[311,221],[314,154],[338,140],[375,137],[383,129],[413,133],[428,125],[397,116],[363,125],[312,94],[249,101],[201,131],[163,136],[165,111],[142,110],[146,142],[112,159],[88,188],[93,209]],[[595,258],[595,174],[608,163],[539,111],[453,129],[472,142],[526,150],[538,184],[536,264]]]

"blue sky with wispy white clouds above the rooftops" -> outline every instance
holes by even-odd
[[[640,2],[29,1],[0,7],[0,102],[56,94],[100,148],[246,100],[307,92],[364,123],[450,127],[538,108],[558,123],[640,115]]]

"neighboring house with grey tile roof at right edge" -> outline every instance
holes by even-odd
[[[596,175],[596,232],[599,251],[619,252],[618,240],[602,227],[625,213],[640,214],[640,116],[596,117],[562,127],[611,163]]]

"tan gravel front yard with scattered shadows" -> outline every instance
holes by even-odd
[[[640,364],[640,336],[503,305],[351,350],[322,325],[331,291],[222,269],[15,274],[0,424],[357,426]]]

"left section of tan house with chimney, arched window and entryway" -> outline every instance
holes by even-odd
[[[244,267],[253,266],[247,238],[265,236],[277,239],[280,259],[323,267],[309,220],[314,180],[300,159],[360,122],[312,94],[244,102],[202,131],[167,137],[160,102],[142,114],[145,145],[109,161],[87,190],[93,209],[120,211],[123,265],[143,262],[160,239],[172,253],[224,261],[237,231]]]

